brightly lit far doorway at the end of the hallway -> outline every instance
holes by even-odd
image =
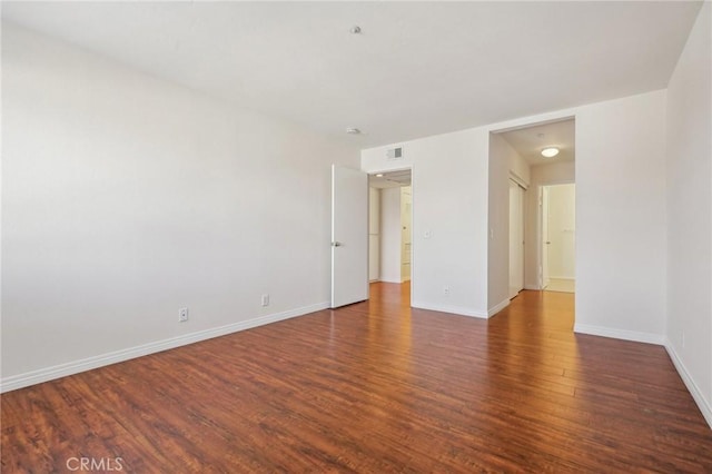
[[[547,292],[576,289],[576,188],[574,184],[542,186],[542,275]]]

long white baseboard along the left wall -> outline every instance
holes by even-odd
[[[27,387],[34,384],[41,384],[42,382],[52,381],[55,378],[66,377],[68,375],[90,371],[92,368],[103,367],[106,365],[116,364],[118,362],[123,362],[131,358],[159,353],[161,350],[186,346],[188,344],[211,339],[218,336],[225,336],[227,334],[250,329],[253,327],[264,326],[266,324],[277,323],[279,320],[303,316],[309,313],[326,309],[328,307],[329,307],[328,302],[318,303],[310,306],[304,306],[301,308],[290,309],[281,313],[275,313],[271,315],[260,316],[253,319],[243,320],[239,323],[228,324],[226,326],[199,330],[197,333],[190,333],[190,334],[186,334],[178,337],[171,337],[169,339],[162,339],[162,340],[157,340],[155,343],[148,343],[140,346],[129,347],[127,349],[115,350],[111,353],[101,354],[98,356],[88,357],[80,361],[72,361],[66,364],[55,365],[51,367],[28,372],[24,374],[3,377],[0,381],[0,393],[14,391],[14,389]]]

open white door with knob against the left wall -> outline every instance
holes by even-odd
[[[368,299],[368,175],[332,165],[332,307]]]

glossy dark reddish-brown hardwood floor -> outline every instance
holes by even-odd
[[[665,349],[574,335],[573,295],[523,292],[490,320],[407,300],[376,284],[3,394],[2,472],[712,472]]]

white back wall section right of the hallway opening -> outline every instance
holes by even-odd
[[[662,343],[665,91],[576,112],[575,330]]]

